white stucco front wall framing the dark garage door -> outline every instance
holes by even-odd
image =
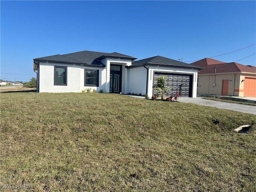
[[[189,68],[170,68],[163,66],[146,66],[149,68],[149,77],[148,77],[148,96],[152,97],[153,85],[154,85],[154,72],[162,72],[162,73],[176,73],[176,74],[190,74],[193,75],[193,84],[192,84],[192,97],[196,98],[196,86],[197,86],[197,69],[189,69]]]

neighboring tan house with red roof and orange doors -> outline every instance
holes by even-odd
[[[198,94],[256,97],[256,67],[205,58],[192,63],[198,72]]]

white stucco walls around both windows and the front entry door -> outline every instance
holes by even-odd
[[[95,66],[80,66],[72,64],[40,62],[38,68],[39,75],[39,92],[81,92],[87,88],[96,89],[99,92],[101,89],[105,93],[109,93],[110,89],[110,64],[122,65],[122,93],[128,93],[129,82],[128,72],[125,66],[132,64],[131,60],[105,58],[102,63],[106,65],[103,67]],[[54,66],[67,67],[67,85],[54,85]],[[99,70],[99,86],[84,86],[84,69]],[[91,90],[91,91],[92,91]]]

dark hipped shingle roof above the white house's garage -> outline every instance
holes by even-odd
[[[132,62],[131,66],[128,66],[127,68],[132,68],[132,67],[138,67],[142,65],[159,65],[159,66],[174,66],[174,67],[184,67],[184,68],[196,68],[196,69],[202,69],[201,67],[191,65],[188,63],[184,63],[181,61],[176,61],[170,58],[162,57],[162,56],[154,56],[138,61]]]

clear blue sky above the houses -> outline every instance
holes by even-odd
[[[1,79],[29,81],[33,59],[83,50],[191,63],[256,43],[256,1],[0,1]],[[256,45],[214,57],[236,62]],[[256,54],[239,61],[256,66]]]

